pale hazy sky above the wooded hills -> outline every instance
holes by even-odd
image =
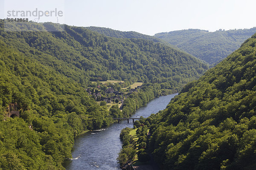
[[[31,0],[6,1],[18,4],[19,10],[64,6],[64,23],[67,25],[100,26],[148,35],[188,28],[216,31],[256,26],[256,0],[37,1],[43,5],[35,5]],[[3,4],[3,0],[0,2]],[[0,18],[4,18],[3,7],[1,11]]]

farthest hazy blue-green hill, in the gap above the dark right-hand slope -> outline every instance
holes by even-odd
[[[187,53],[213,64],[238,49],[255,32],[256,27],[229,31],[220,29],[215,32],[188,29],[158,33],[154,37],[176,45]]]

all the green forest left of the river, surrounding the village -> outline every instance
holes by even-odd
[[[63,169],[74,137],[113,123],[113,117],[179,91],[208,66],[160,42],[107,37],[87,28],[28,22],[4,31],[0,21],[0,169]],[[20,30],[20,31],[19,31]],[[29,31],[30,30],[30,31]],[[91,81],[144,82],[123,111],[99,106]],[[9,118],[16,105],[19,118]]]

